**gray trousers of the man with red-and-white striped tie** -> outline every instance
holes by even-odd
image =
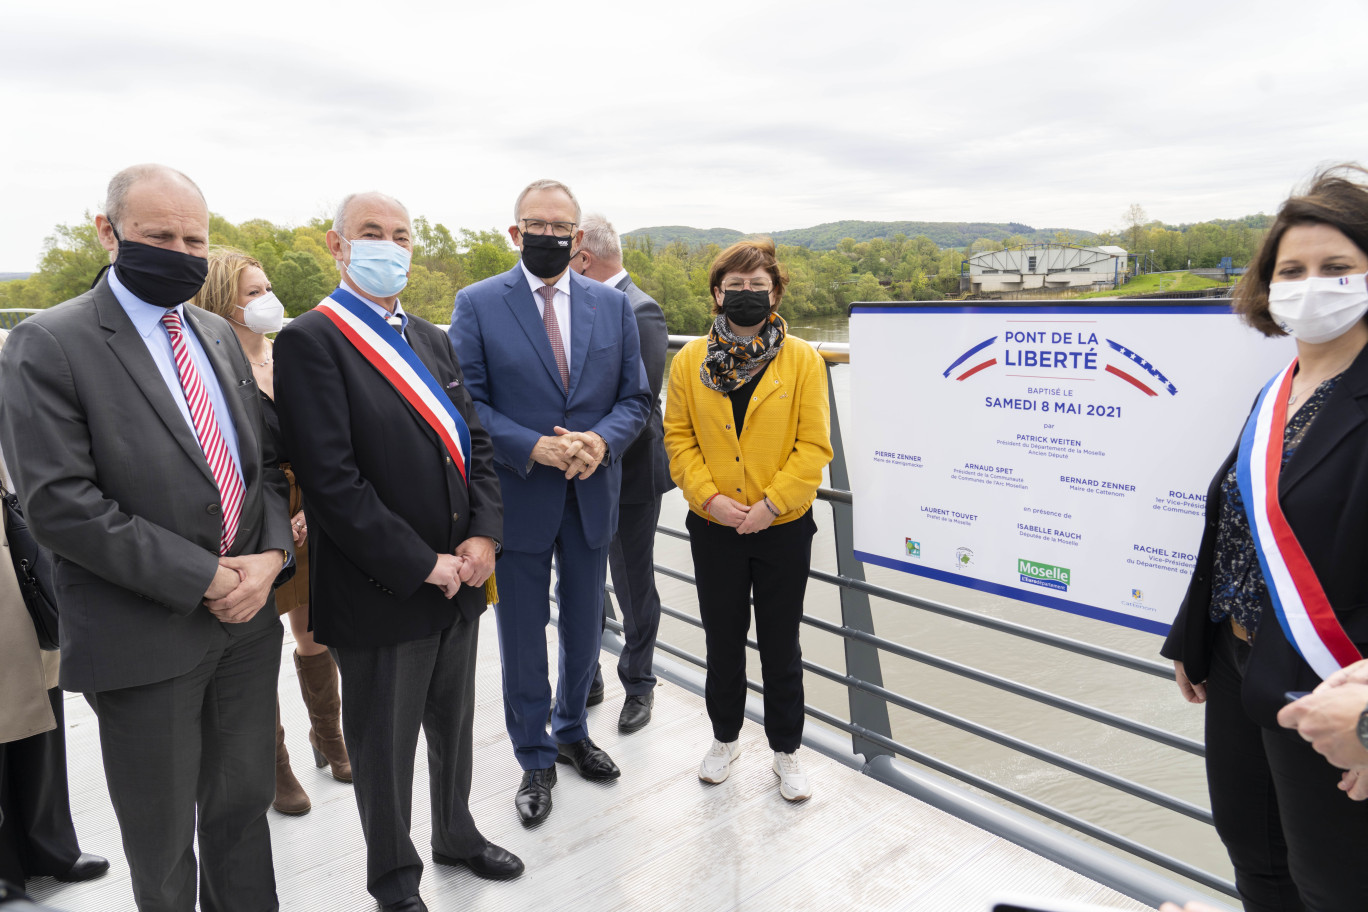
[[[194,912],[197,830],[204,912],[280,908],[267,808],[283,634],[220,628],[189,673],[86,695],[140,912]]]

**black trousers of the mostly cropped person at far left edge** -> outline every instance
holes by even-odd
[[[66,874],[81,857],[67,792],[62,689],[48,690],[57,727],[0,744],[0,881]]]

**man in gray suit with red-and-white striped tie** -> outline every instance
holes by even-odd
[[[278,909],[285,474],[233,328],[185,304],[207,271],[200,189],[126,168],[96,230],[112,268],[0,356],[0,446],[57,558],[62,686],[100,721],[138,909],[196,908],[196,835],[200,908]]]

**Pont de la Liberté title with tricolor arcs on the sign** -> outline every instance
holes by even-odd
[[[999,339],[1001,346],[997,346]],[[1107,345],[1103,346],[1103,342]],[[1178,387],[1141,354],[1114,339],[1099,339],[1088,330],[1008,330],[1001,336],[989,336],[967,349],[941,376],[963,381],[995,365],[1075,375],[1060,376],[1062,380],[1081,379],[1079,375],[1086,377],[1101,371],[1149,397],[1157,397],[1160,391],[1178,395]]]

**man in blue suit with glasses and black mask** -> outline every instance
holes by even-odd
[[[598,667],[620,459],[646,424],[651,392],[627,295],[569,269],[583,238],[570,189],[535,180],[513,217],[518,264],[456,295],[450,335],[494,440],[503,492],[503,716],[523,767],[516,805],[532,826],[551,811],[557,762],[586,779],[620,775],[588,736],[586,700]],[[547,734],[553,558],[561,648]]]

